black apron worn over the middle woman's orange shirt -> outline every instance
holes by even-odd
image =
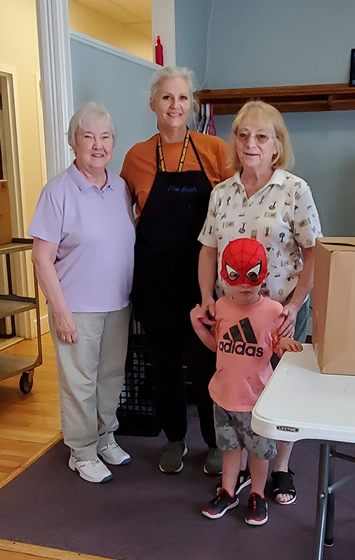
[[[184,172],[189,144],[200,169]],[[189,131],[178,171],[165,171],[160,137],[156,160],[153,186],[137,225],[132,301],[135,317],[143,325],[147,321],[162,323],[162,311],[181,324],[201,300],[197,276],[201,244],[197,237],[207,216],[211,183]]]

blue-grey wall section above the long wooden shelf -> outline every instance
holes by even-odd
[[[354,30],[354,0],[214,0],[208,87],[347,82]]]

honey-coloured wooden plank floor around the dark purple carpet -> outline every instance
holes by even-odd
[[[55,357],[49,333],[43,335],[42,342],[43,364],[35,370],[31,393],[21,393],[20,376],[0,382],[0,488],[62,439]],[[17,356],[36,356],[36,351],[36,340],[23,340],[3,350]],[[1,539],[0,559],[106,560]]]

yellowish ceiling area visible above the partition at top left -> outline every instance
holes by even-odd
[[[121,25],[151,38],[151,0],[78,0]]]

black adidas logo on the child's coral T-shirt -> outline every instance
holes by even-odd
[[[224,342],[225,341],[225,342]],[[239,321],[234,327],[230,327],[228,332],[223,335],[223,340],[218,344],[218,350],[226,353],[235,353],[239,356],[256,356],[261,358],[264,354],[262,346],[257,346],[253,327],[249,318],[244,318]]]

